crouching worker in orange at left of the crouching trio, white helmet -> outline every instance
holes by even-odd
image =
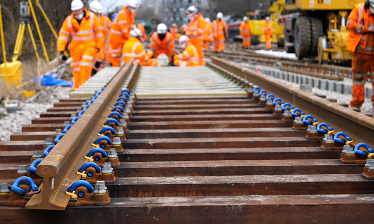
[[[134,58],[134,64],[143,66],[157,66],[158,61],[151,58],[153,52],[146,52],[140,39],[142,38],[142,31],[134,28],[130,31],[130,37],[123,45],[122,57],[125,63],[128,63],[131,58]]]

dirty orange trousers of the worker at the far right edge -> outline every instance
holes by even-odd
[[[368,74],[369,72],[369,74]],[[351,107],[361,108],[365,101],[365,83],[370,78],[374,89],[374,55],[353,53]],[[374,95],[372,96],[374,102]]]

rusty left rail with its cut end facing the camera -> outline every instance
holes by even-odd
[[[26,204],[26,209],[65,210],[70,196],[66,189],[80,179],[77,170],[86,161],[84,155],[90,149],[91,139],[96,136],[115,102],[123,83],[131,72],[132,63],[127,63],[106,86],[79,120],[69,129],[53,150],[37,166],[36,174],[43,178],[41,193],[34,195]]]

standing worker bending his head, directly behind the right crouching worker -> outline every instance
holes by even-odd
[[[205,19],[202,17],[201,13],[198,13],[197,8],[194,5],[187,8],[186,15],[190,22],[187,25],[188,29],[185,35],[189,37],[189,42],[196,47],[200,59],[200,65],[205,65],[204,53],[202,52],[206,24]]]

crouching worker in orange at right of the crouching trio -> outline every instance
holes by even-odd
[[[181,67],[200,66],[197,49],[189,42],[189,38],[183,35],[179,38],[179,44],[185,49],[182,54],[173,57],[174,65]]]

